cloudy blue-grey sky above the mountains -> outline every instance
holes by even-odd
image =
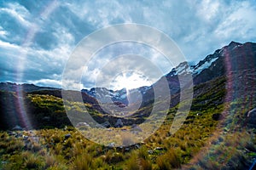
[[[256,42],[255,16],[255,0],[0,0],[0,82],[61,88],[62,73],[79,42],[102,28],[125,23],[151,26],[165,33],[186,60],[196,64],[231,41]],[[90,63],[84,64],[81,88],[96,84],[113,89],[137,88],[160,78],[160,74],[148,76],[151,73],[147,68],[140,72],[137,68],[145,65],[124,58],[125,54],[144,56],[162,74],[176,66],[143,44],[120,42],[113,46],[97,51]],[[117,71],[126,65],[132,65],[133,71],[130,67]]]

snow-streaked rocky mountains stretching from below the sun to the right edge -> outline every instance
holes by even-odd
[[[168,74],[161,77],[159,81],[152,86],[141,87],[129,90],[129,95],[132,96],[128,101],[127,90],[121,89],[117,91],[107,88],[91,88],[90,90],[83,89],[82,91],[92,97],[102,99],[102,103],[121,102],[125,105],[136,103],[139,99],[137,96],[142,95],[143,105],[154,100],[153,86],[161,87],[163,79],[169,83],[170,94],[177,94],[180,90],[178,77],[183,77],[191,74],[194,85],[210,81],[216,77],[224,76],[230,71],[245,71],[247,69],[256,68],[256,43],[253,42],[230,42],[229,45],[217,49],[213,54],[207,55],[197,65],[189,65],[187,62],[180,63],[172,69]],[[232,65],[232,67],[230,67]],[[136,95],[132,95],[136,94]],[[140,94],[140,95],[138,95]]]

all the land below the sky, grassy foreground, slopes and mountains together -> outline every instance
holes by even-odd
[[[119,144],[111,140],[116,136],[111,132],[114,129],[129,131],[135,128],[134,124],[140,125],[147,120],[154,106],[152,86],[139,88],[143,104],[126,117],[104,112],[95,99],[97,94],[93,93],[93,89],[65,92],[70,96],[66,109],[74,111],[79,117],[85,107],[96,122],[108,128],[109,141],[104,140],[104,146],[84,139],[82,133],[72,127],[60,89],[32,86],[34,88],[15,91],[9,89],[17,89],[14,87],[21,85],[4,84],[4,88],[0,88],[0,167],[249,169],[256,159],[255,68],[256,44],[252,42],[230,42],[197,65],[178,65],[164,76],[172,94],[165,121],[148,139],[124,147],[114,147]],[[195,85],[192,105],[182,127],[177,133],[170,133],[178,114],[177,108],[185,105],[180,102],[178,75],[188,72],[192,73]],[[158,83],[160,81],[154,84]],[[119,98],[121,91],[104,88],[102,92],[112,94],[109,96],[114,98],[113,105],[127,105],[125,98]],[[76,100],[78,94],[82,94],[84,103]],[[123,123],[120,127],[115,126],[118,119]],[[25,130],[13,129],[17,126]],[[85,130],[86,126],[84,124]],[[12,129],[14,131],[7,131]],[[136,133],[143,136],[143,131],[139,127],[136,129]],[[96,132],[97,128],[94,130]],[[104,134],[97,132],[91,135],[97,135],[96,139],[102,140]],[[131,138],[121,137],[123,144],[129,145]]]

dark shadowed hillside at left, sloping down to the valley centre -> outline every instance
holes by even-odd
[[[100,124],[108,122],[109,126],[113,127],[118,119],[122,119],[126,125],[144,121],[143,118],[122,118],[108,115],[102,110],[96,99],[83,92],[82,94],[77,91],[67,91],[66,93],[69,94],[72,101],[67,105],[68,111],[72,110],[78,114],[88,111],[90,116]],[[0,96],[1,130],[11,130],[15,126],[26,130],[76,126],[69,121],[60,90],[38,90],[29,93],[0,91]],[[84,103],[79,100],[79,96],[82,96]]]

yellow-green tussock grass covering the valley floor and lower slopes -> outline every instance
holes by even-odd
[[[224,103],[224,78],[195,87],[197,93],[189,115],[176,133],[170,127],[178,105],[170,108],[164,123],[139,147],[109,148],[85,139],[83,134],[69,126],[65,120],[62,100],[45,94],[29,94],[36,111],[36,120],[56,117],[48,124],[44,121],[33,131],[0,132],[1,169],[242,169],[249,167],[256,158],[255,129],[246,127],[246,113],[256,105],[252,99],[236,99]],[[219,90],[219,88],[221,88]],[[207,100],[207,103],[205,102]],[[246,102],[250,101],[249,105]],[[243,105],[244,107],[241,107]],[[67,109],[81,112],[86,107],[92,116],[102,118],[91,104],[70,103]],[[152,109],[147,105],[140,114]],[[223,120],[214,120],[221,114]],[[57,116],[56,116],[57,115]],[[146,117],[143,117],[146,118]],[[133,119],[137,119],[133,117]],[[70,123],[70,122],[69,122]],[[45,127],[44,126],[48,126]],[[154,122],[143,126],[150,131]],[[97,128],[90,135],[99,142],[129,145],[132,136],[122,127],[119,133],[108,135]],[[65,139],[69,133],[71,137]],[[84,132],[86,133],[86,131]],[[147,133],[139,133],[141,137]],[[26,136],[26,138],[25,138]],[[107,136],[107,137],[104,137]],[[103,138],[104,137],[104,138]],[[116,138],[116,139],[115,139]],[[118,143],[118,139],[120,143]]]

